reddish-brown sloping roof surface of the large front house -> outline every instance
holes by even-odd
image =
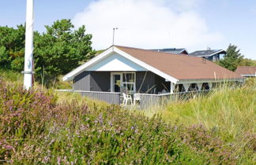
[[[115,47],[176,79],[243,79],[235,72],[201,57],[181,56],[126,46]]]

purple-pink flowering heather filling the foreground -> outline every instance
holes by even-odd
[[[1,80],[0,80],[1,81]],[[204,127],[173,127],[119,106],[57,104],[39,90],[0,82],[2,163],[236,163]]]

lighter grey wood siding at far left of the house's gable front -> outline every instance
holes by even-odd
[[[75,76],[73,79],[73,89],[74,90],[90,90],[90,72],[81,72],[79,75]]]

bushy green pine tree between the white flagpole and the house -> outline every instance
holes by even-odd
[[[42,35],[35,34],[36,72],[51,76],[64,75],[88,61],[96,53],[92,49],[92,35],[85,34],[85,26],[73,30],[71,20],[57,20]]]

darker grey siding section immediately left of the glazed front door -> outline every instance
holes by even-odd
[[[110,92],[111,72],[91,72],[90,91]]]

